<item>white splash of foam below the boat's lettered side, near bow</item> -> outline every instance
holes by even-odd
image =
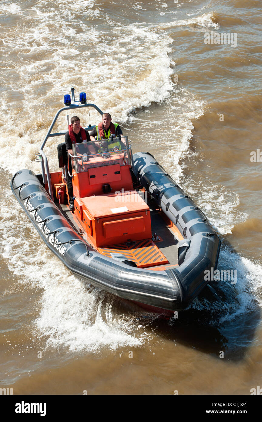
[[[52,280],[45,279],[43,308],[35,322],[37,332],[48,337],[47,345],[98,352],[144,343],[147,334],[135,335],[131,318],[112,310],[116,298],[94,287],[88,292],[75,277],[64,278],[63,273],[59,268]]]

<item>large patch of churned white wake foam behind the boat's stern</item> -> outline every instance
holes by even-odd
[[[83,6],[92,4],[84,2]],[[3,123],[0,148],[5,153],[0,165],[12,173],[18,168],[40,171],[39,164],[31,160],[39,150],[52,116],[63,106],[62,95],[68,92],[72,81],[79,81],[81,90],[88,87],[88,101],[102,110],[110,109],[112,118],[122,123],[131,121],[134,110],[164,100],[173,89],[171,38],[142,24],[127,27],[119,24],[112,28],[109,25],[107,38],[104,32],[85,25],[82,26],[84,32],[77,33],[77,23],[68,28],[49,9],[41,13],[27,32],[13,32],[5,39],[6,51],[10,48],[23,51],[26,57],[14,70],[20,81],[8,80],[10,89],[3,92],[0,105]],[[113,34],[114,43],[110,38]],[[83,46],[84,55],[80,52]],[[20,97],[23,101],[16,100]],[[53,104],[49,98],[53,98]],[[43,108],[45,103],[50,104],[47,110]],[[92,123],[97,118],[97,113],[91,112]],[[59,121],[56,128],[65,130],[65,119]],[[54,142],[48,141],[53,151],[51,160],[56,159],[56,149],[52,149]],[[7,154],[9,160],[6,160]]]

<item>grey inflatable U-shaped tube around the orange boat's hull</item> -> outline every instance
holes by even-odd
[[[71,227],[31,170],[19,170],[11,189],[45,244],[72,271],[120,298],[171,311],[187,308],[206,286],[204,271],[217,267],[220,240],[203,213],[148,153],[134,154],[134,172],[185,241],[180,265],[163,271],[136,268],[106,257]],[[89,251],[89,252],[88,252]]]

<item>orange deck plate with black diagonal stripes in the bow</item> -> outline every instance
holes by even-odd
[[[128,261],[135,262],[139,268],[168,264],[166,257],[151,239],[140,240],[132,245],[120,243],[113,245],[112,248],[98,248],[98,251],[110,258],[112,258],[111,253],[120,253]]]

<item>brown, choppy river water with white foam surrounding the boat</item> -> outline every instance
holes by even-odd
[[[1,388],[262,387],[261,31],[255,0],[1,1]],[[233,38],[205,43],[216,32]],[[133,152],[150,151],[203,209],[222,240],[218,268],[236,270],[235,284],[211,281],[168,322],[84,285],[45,246],[9,184],[19,169],[40,173],[35,153],[71,86],[110,111]],[[86,126],[100,119],[78,115]],[[66,128],[64,115],[55,129]],[[52,171],[57,143],[45,147]]]

